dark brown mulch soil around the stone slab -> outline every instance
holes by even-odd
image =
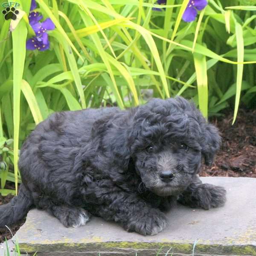
[[[233,111],[224,117],[211,118],[221,132],[222,145],[211,167],[202,166],[201,176],[256,177],[256,110],[240,109],[236,122],[232,125]],[[13,188],[11,183],[8,188]],[[7,187],[6,187],[7,188]],[[12,199],[12,195],[0,195],[0,205]],[[9,227],[14,235],[25,222]],[[12,237],[7,228],[0,229],[0,243],[5,237]]]

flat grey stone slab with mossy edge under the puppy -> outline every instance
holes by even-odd
[[[224,186],[224,207],[191,209],[177,205],[167,214],[168,227],[156,236],[128,233],[119,224],[93,217],[85,226],[65,228],[47,212],[33,209],[15,236],[23,252],[38,256],[256,255],[256,179],[202,177]],[[163,253],[163,254],[162,254]]]

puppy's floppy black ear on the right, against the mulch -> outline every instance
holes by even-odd
[[[202,155],[204,156],[204,162],[206,165],[211,166],[215,152],[220,148],[221,137],[218,129],[211,124],[205,123],[201,127],[202,131]]]

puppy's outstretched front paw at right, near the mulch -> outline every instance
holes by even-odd
[[[193,194],[198,200],[198,206],[205,210],[221,207],[226,202],[226,190],[221,186],[208,183],[200,184]]]

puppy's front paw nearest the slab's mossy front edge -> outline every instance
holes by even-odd
[[[128,231],[135,231],[143,236],[156,235],[165,229],[167,218],[158,209],[145,209],[137,216],[133,216],[126,224],[125,228]]]

